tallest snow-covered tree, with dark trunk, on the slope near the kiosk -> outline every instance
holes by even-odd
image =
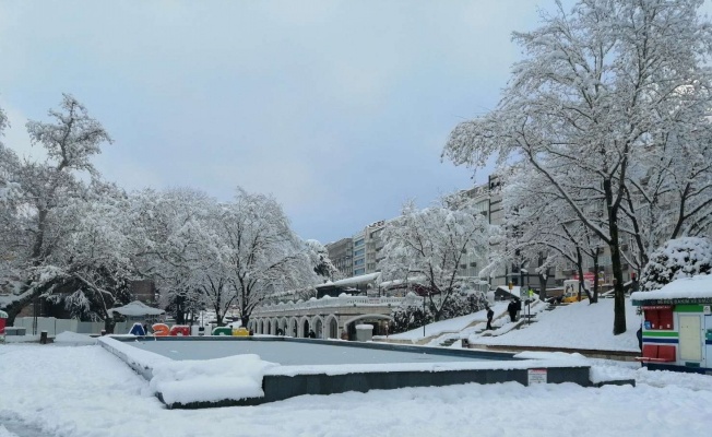
[[[559,192],[609,248],[615,334],[626,331],[619,248],[632,178],[642,184],[650,165],[643,158],[667,149],[684,147],[681,158],[709,164],[712,28],[698,16],[701,4],[580,0],[567,13],[557,1],[541,28],[514,34],[526,58],[514,66],[498,107],[459,125],[443,152],[472,166],[491,155],[501,166],[525,161]],[[708,190],[697,192],[695,204],[709,208]],[[586,211],[597,203],[603,222]]]

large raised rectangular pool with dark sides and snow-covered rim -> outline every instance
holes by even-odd
[[[257,405],[302,394],[518,381],[590,386],[590,365],[511,353],[281,336],[99,339],[168,408]]]

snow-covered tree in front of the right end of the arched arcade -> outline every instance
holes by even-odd
[[[413,201],[401,216],[388,222],[381,238],[384,258],[379,263],[382,280],[420,277],[430,310],[440,320],[461,279],[458,268],[471,255],[487,250],[489,225],[472,202],[447,208],[448,197],[418,210]]]

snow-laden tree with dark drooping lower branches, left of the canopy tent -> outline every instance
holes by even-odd
[[[131,300],[135,279],[131,246],[127,240],[127,199],[122,190],[94,180],[81,197],[52,213],[52,249],[40,265],[31,269],[32,286],[69,315],[104,321],[114,331],[109,309]]]

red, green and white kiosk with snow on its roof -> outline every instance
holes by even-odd
[[[638,359],[644,366],[712,375],[712,275],[679,279],[630,298],[643,315]]]

